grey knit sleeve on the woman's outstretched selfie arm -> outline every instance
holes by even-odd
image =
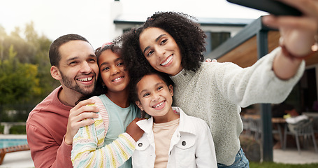
[[[273,71],[273,59],[279,50],[276,48],[247,68],[229,62],[221,63],[219,68],[212,68],[208,75],[216,80],[217,88],[223,96],[239,106],[280,103],[303,75],[305,62],[301,63],[293,78],[281,80]]]

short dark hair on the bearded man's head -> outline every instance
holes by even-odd
[[[59,66],[59,61],[61,60],[61,54],[59,53],[59,47],[68,41],[87,41],[86,38],[78,35],[78,34],[66,34],[64,36],[60,36],[50,45],[49,57],[51,66]]]

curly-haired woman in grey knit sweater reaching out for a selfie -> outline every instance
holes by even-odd
[[[280,29],[282,47],[245,69],[230,62],[202,62],[205,34],[182,13],[155,13],[121,37],[131,76],[152,68],[168,73],[175,83],[173,106],[208,123],[218,167],[249,167],[238,139],[243,131],[241,107],[284,101],[303,74],[303,57],[312,52],[318,30],[315,4],[306,0],[312,5],[303,8],[301,1],[284,1],[305,15],[263,17],[264,24]]]

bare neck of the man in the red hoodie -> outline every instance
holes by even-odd
[[[59,101],[66,106],[75,106],[75,102],[82,97],[82,94],[73,90],[67,90],[62,87],[62,90],[58,94]]]

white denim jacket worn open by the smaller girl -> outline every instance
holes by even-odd
[[[173,107],[173,110],[180,113],[180,123],[171,138],[167,167],[217,167],[215,146],[205,121],[187,116],[178,107]],[[137,125],[145,133],[136,142],[132,155],[133,167],[154,167],[153,118],[140,120]]]

